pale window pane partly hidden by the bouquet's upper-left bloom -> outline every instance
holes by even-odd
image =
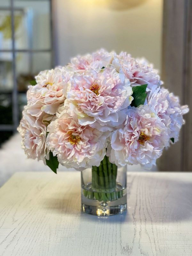
[[[51,68],[51,53],[23,53],[16,54],[16,77],[19,92],[25,92],[31,80],[34,80],[41,70]]]

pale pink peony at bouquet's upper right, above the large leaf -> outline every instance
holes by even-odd
[[[130,80],[132,86],[148,84],[148,89],[153,85],[162,84],[157,71],[145,59],[134,59],[130,54],[121,52],[114,58],[112,65]]]

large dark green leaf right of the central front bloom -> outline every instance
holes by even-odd
[[[145,99],[147,97],[146,88],[147,88],[147,84],[132,87],[132,91],[133,91],[132,96],[134,98],[131,103],[132,107],[138,107],[139,105],[144,104]]]

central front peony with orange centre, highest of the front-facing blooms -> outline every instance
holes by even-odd
[[[79,124],[97,127],[95,122],[101,125],[123,122],[121,110],[131,104],[131,95],[130,82],[123,74],[114,68],[103,68],[100,72],[90,70],[84,75],[74,75],[67,98],[78,115]]]

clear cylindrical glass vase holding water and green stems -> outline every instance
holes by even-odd
[[[83,212],[108,216],[127,209],[126,166],[111,164],[107,156],[100,166],[81,172],[81,203]]]

